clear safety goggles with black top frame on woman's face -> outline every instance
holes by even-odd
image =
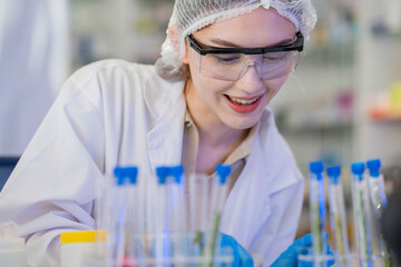
[[[199,72],[219,80],[236,81],[247,69],[255,67],[262,80],[273,80],[287,76],[296,68],[304,38],[301,32],[288,44],[265,48],[215,48],[186,37],[197,52],[190,60],[198,65]]]

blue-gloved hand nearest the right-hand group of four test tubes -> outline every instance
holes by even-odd
[[[327,239],[329,234],[325,234],[325,238]],[[300,239],[295,240],[284,253],[280,255],[280,257],[271,265],[271,267],[297,267],[299,266],[299,255],[307,255],[312,253],[312,241],[313,236],[312,234],[305,235],[301,237]],[[330,251],[329,243],[326,244],[326,254],[333,255],[332,251]],[[329,260],[327,266],[332,266],[334,264],[334,260]],[[313,263],[301,263],[300,266],[303,267],[312,267]]]

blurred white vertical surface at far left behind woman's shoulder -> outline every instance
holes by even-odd
[[[0,156],[20,156],[69,75],[68,2],[2,0]]]

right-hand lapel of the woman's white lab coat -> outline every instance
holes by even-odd
[[[250,248],[276,208],[271,207],[271,196],[302,179],[294,164],[273,112],[266,109],[245,168],[225,204],[222,231]]]

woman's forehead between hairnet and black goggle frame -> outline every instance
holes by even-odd
[[[295,36],[295,26],[273,8],[258,8],[193,33],[207,42],[221,39],[243,47],[264,47]],[[209,42],[208,42],[209,43]]]

